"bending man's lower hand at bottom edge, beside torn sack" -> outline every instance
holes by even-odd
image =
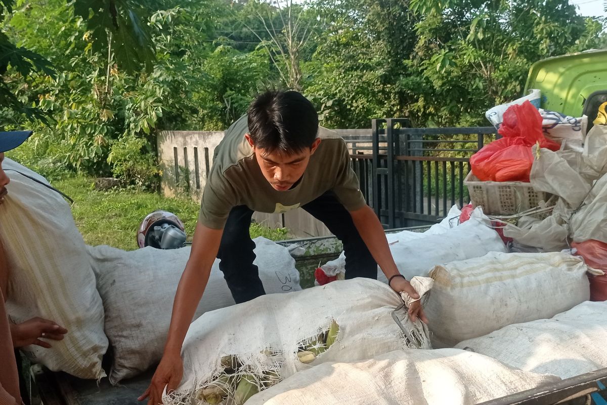
[[[148,398],[148,405],[162,404],[162,392],[166,386],[166,392],[169,393],[177,389],[183,377],[183,360],[180,353],[164,353],[158,368],[152,377],[152,382],[146,392],[143,393],[137,401],[143,401]]]

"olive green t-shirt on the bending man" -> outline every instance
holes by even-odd
[[[345,141],[321,128],[322,139],[299,183],[287,191],[275,190],[263,177],[248,134],[246,115],[228,128],[215,148],[215,156],[200,207],[200,222],[222,229],[232,207],[246,205],[260,213],[284,213],[298,208],[332,190],[348,211],[366,203],[356,174],[350,167]],[[324,131],[323,131],[324,130]]]

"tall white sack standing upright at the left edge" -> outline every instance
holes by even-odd
[[[48,184],[8,158],[2,166]],[[101,378],[107,350],[103,306],[70,205],[58,192],[14,171],[6,173],[10,184],[0,206],[0,239],[10,270],[8,314],[16,322],[51,319],[69,331],[62,341],[52,342],[52,349],[32,345],[24,352],[50,370]]]

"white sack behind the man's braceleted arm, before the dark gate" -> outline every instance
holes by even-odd
[[[498,233],[484,224],[480,210],[461,225],[457,225],[457,217],[447,216],[446,219],[455,226],[439,228],[441,233],[402,231],[387,235],[396,267],[407,280],[414,276],[426,277],[428,271],[439,264],[484,256],[490,251],[508,251]],[[342,252],[337,259],[320,268],[328,276],[344,273],[345,254]],[[388,282],[379,267],[378,280]]]

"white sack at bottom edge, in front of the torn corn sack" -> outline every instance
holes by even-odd
[[[398,350],[367,361],[320,364],[246,405],[472,405],[558,380],[464,350]]]

